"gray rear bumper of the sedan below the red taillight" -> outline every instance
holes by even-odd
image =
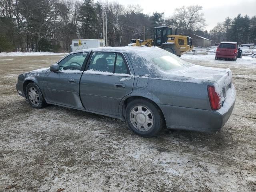
[[[226,113],[170,105],[159,105],[166,126],[170,129],[193,130],[203,132],[216,132],[228,121],[234,109],[235,100]]]

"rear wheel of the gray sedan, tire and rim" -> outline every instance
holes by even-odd
[[[129,128],[135,134],[143,137],[156,136],[164,124],[160,109],[146,99],[136,99],[129,102],[126,107],[125,118]]]

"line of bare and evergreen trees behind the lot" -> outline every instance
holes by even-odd
[[[216,42],[250,42],[255,38],[255,16],[227,18],[209,32],[202,6],[182,6],[170,18],[163,12],[144,14],[140,5],[93,0],[0,0],[0,52],[69,51],[72,39],[103,38],[106,12],[109,46],[126,46],[132,38],[154,38],[154,26],[172,25]],[[228,22],[229,21],[229,22]],[[243,22],[241,22],[243,21]],[[249,23],[248,23],[249,22]]]

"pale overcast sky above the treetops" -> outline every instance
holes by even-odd
[[[228,16],[234,18],[239,13],[250,17],[256,15],[256,0],[108,0],[112,1],[123,5],[140,4],[145,14],[164,12],[165,17],[171,16],[175,8],[198,4],[203,7],[207,30]]]

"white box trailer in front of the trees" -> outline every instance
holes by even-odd
[[[97,47],[105,47],[105,40],[103,39],[74,39],[70,45],[70,51],[74,52],[81,49],[90,49]]]

